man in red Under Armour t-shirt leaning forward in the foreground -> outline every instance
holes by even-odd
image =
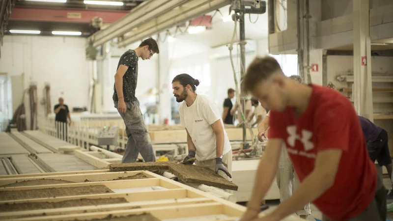
[[[269,140],[241,221],[280,221],[313,202],[324,221],[385,221],[386,189],[368,158],[352,104],[336,90],[288,79],[273,57],[257,57],[243,80],[271,110]],[[284,144],[301,182],[271,214],[257,218]]]

